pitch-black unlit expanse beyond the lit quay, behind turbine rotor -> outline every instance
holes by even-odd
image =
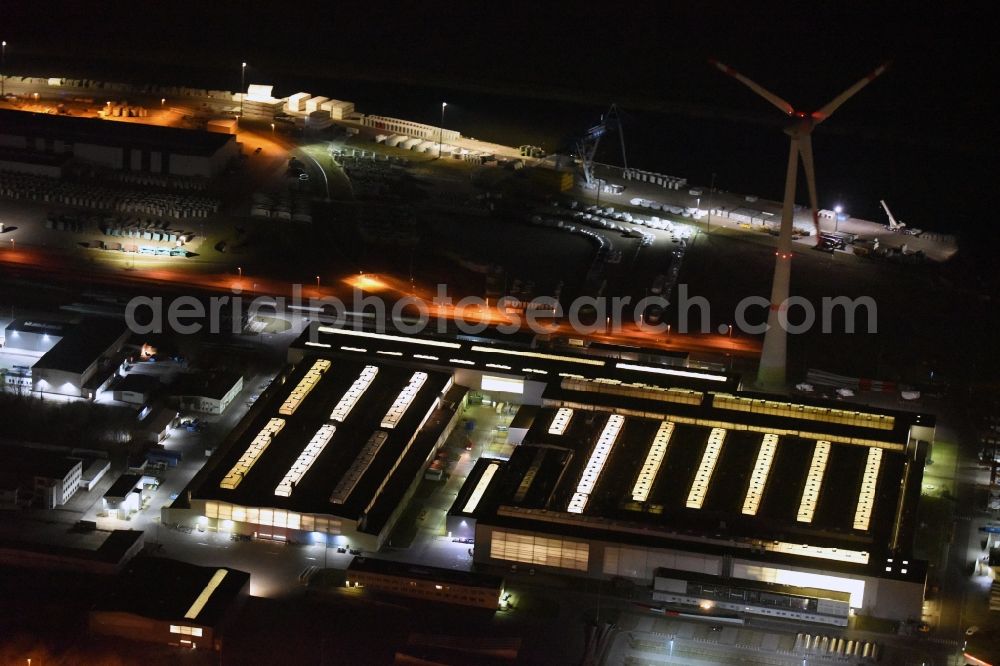
[[[11,43],[10,66],[21,71],[235,89],[239,61],[246,59],[255,80],[276,83],[281,94],[328,77],[524,96],[527,122],[563,123],[567,135],[583,129],[595,109],[618,101],[637,114],[655,112],[637,116],[630,128],[639,162],[642,144],[655,145],[661,123],[678,118],[699,121],[690,129],[695,136],[715,133],[719,119],[720,137],[745,132],[744,155],[767,154],[764,173],[773,188],[716,166],[741,158],[725,150],[741,138],[706,144],[714,151],[711,164],[694,160],[680,168],[693,180],[719,170],[731,189],[758,188],[768,196],[780,194],[785,150],[773,132],[780,114],[706,59],[727,62],[807,110],[892,59],[889,73],[817,131],[827,189],[863,191],[864,180],[871,191],[862,207],[871,210],[883,193],[913,197],[943,174],[947,201],[925,196],[912,204],[928,207],[923,222],[934,226],[927,218],[968,205],[994,179],[990,97],[1000,59],[992,31],[1000,23],[989,3],[2,1],[0,37]],[[364,93],[354,94],[366,101]],[[535,102],[552,97],[562,106]],[[567,99],[587,110],[567,113]],[[411,100],[362,110],[403,115],[424,107],[435,105]],[[460,124],[461,115],[454,121]],[[669,169],[648,163],[654,159],[640,166]],[[671,163],[680,161],[671,156]],[[855,163],[867,170],[854,174]],[[884,182],[870,183],[883,174]],[[919,211],[911,217],[919,219]]]

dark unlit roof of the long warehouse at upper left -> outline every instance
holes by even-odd
[[[45,136],[72,143],[148,148],[181,155],[214,155],[235,138],[218,132],[0,109],[4,134]]]

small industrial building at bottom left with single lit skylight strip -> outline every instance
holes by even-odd
[[[159,557],[134,560],[90,611],[94,633],[218,650],[246,599],[250,574]]]

